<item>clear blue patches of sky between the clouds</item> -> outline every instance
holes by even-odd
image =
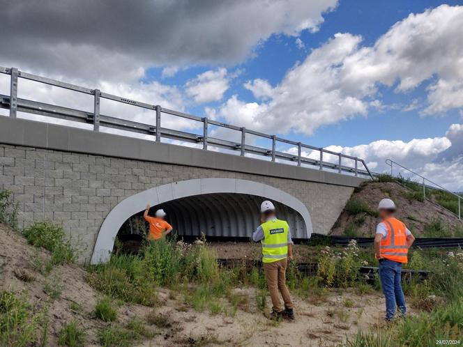
[[[301,38],[305,47],[299,49],[296,38],[275,34],[255,49],[255,56],[243,63],[228,65],[229,70],[239,69],[241,75],[236,78],[222,100],[227,100],[234,94],[248,102],[254,100],[252,93],[243,88],[244,82],[250,79],[264,78],[273,86],[278,84],[284,74],[298,61],[303,61],[311,49],[326,43],[335,33],[353,33],[363,37],[363,45],[374,45],[374,42],[390,29],[396,22],[403,20],[410,13],[422,13],[427,8],[434,8],[442,3],[457,5],[462,1],[377,1],[372,6],[369,1],[340,1],[335,10],[324,14],[324,23],[319,31],[303,31]],[[146,77],[151,80],[162,80],[164,83],[183,85],[188,79],[199,73],[216,68],[216,65],[203,65],[185,68],[173,77],[161,78],[162,68],[153,68]],[[425,87],[419,86],[409,93],[394,93],[393,88],[381,87],[381,93],[387,104],[407,105],[411,100],[426,99]],[[211,102],[208,106],[218,107],[222,100]],[[204,114],[204,105],[189,106],[187,111],[198,116]],[[387,116],[385,113],[387,112]],[[370,111],[367,116],[342,121],[335,125],[319,128],[311,136],[304,134],[284,134],[290,139],[303,141],[314,146],[356,146],[360,143],[377,139],[410,141],[417,137],[438,137],[446,132],[448,127],[461,121],[457,109],[447,111],[445,116],[420,116],[420,109],[402,111]]]

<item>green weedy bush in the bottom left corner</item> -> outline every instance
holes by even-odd
[[[31,314],[26,299],[0,293],[0,346],[23,347],[36,341],[40,316]]]

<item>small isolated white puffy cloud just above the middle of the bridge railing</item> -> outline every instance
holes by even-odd
[[[227,69],[218,68],[217,70],[208,70],[197,75],[194,79],[190,79],[185,84],[185,90],[187,95],[197,104],[202,104],[221,100],[229,88],[229,82]]]

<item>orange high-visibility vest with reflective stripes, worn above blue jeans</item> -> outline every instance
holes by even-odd
[[[407,263],[407,254],[409,253],[407,227],[399,219],[393,217],[384,219],[383,223],[386,224],[388,235],[384,240],[381,240],[381,256],[391,261]]]

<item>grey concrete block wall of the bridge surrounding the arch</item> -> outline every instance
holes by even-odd
[[[259,162],[256,161],[256,165]],[[13,192],[20,228],[62,224],[89,261],[103,219],[126,197],[193,178],[241,178],[271,185],[307,206],[314,233],[328,233],[354,187],[0,144],[0,189]]]

